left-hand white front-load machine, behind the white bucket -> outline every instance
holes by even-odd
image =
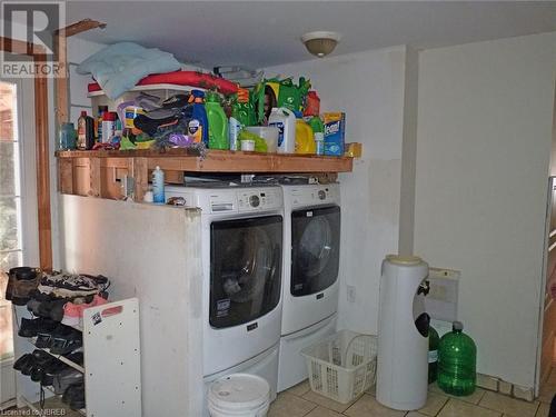
[[[252,368],[276,393],[281,324],[280,187],[202,182],[166,187],[166,197],[181,197],[185,206],[201,209],[205,383]]]

